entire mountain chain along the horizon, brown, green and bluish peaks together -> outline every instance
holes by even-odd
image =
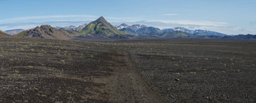
[[[51,27],[47,25],[37,26],[35,29],[15,29],[6,31],[9,34],[16,34],[13,37],[20,38],[47,38],[47,39],[139,39],[139,38],[225,38],[225,39],[256,39],[255,35],[225,35],[219,32],[206,30],[190,30],[183,27],[174,29],[158,29],[152,26],[125,23],[120,26],[112,26],[104,17],[81,26]],[[17,34],[18,33],[18,34]],[[11,36],[0,32],[0,36]]]

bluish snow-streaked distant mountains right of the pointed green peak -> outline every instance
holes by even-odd
[[[136,30],[132,29],[132,27],[138,27]],[[219,32],[212,32],[212,31],[206,31],[206,30],[190,30],[190,29],[185,29],[182,27],[176,27],[174,29],[163,29],[160,30],[155,27],[148,27],[145,25],[133,25],[133,26],[128,26],[126,24],[121,24],[120,26],[117,26],[117,28],[122,32],[125,32],[126,34],[130,35],[156,35],[158,37],[171,37],[171,38],[203,38],[205,35],[214,35],[214,36],[222,36],[224,37],[225,34],[219,33]],[[176,34],[178,33],[178,34]],[[207,36],[209,38],[209,36]]]

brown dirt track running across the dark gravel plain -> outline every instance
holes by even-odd
[[[109,77],[96,78],[96,83],[105,83],[100,89],[105,92],[105,101],[110,102],[166,102],[160,92],[148,86],[130,53],[123,50],[111,50],[104,53],[101,59],[105,68],[111,68]]]

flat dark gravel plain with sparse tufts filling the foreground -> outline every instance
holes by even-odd
[[[0,38],[0,102],[255,102],[256,41]]]

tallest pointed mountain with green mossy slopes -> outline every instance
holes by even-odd
[[[111,35],[125,35],[116,27],[112,26],[104,17],[99,17],[98,20],[89,23],[84,29],[78,30],[81,35],[88,36],[111,36]]]

